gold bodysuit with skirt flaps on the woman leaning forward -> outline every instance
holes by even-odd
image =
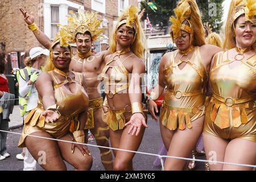
[[[32,109],[25,118],[22,134],[29,135],[36,131],[46,131],[54,138],[61,138],[70,130],[75,130],[74,127],[77,129],[77,126],[79,126],[77,118],[88,106],[88,95],[82,87],[81,73],[72,72],[75,75],[75,80],[71,80],[71,82],[76,85],[74,86],[75,90],[73,90],[73,92],[65,86],[68,81],[60,81],[57,77],[57,75],[59,75],[58,73],[55,71],[47,73],[51,75],[53,80],[55,100],[57,106],[59,106],[61,116],[56,122],[44,122],[42,115],[44,109],[42,100],[39,98],[38,106]],[[26,135],[21,135],[18,147],[26,147],[24,144],[25,139]]]

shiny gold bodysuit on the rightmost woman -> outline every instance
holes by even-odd
[[[223,139],[256,142],[256,55],[230,68],[227,52],[214,57],[210,71],[213,96],[207,107],[204,133]]]

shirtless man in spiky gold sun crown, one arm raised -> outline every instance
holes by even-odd
[[[20,11],[24,15],[24,20],[28,24],[30,30],[33,31],[36,39],[47,49],[51,47],[51,40],[39,30],[35,25],[34,16],[27,13],[26,10],[20,8]],[[81,11],[79,10],[79,16]],[[96,16],[92,14],[93,17]],[[86,14],[85,14],[86,16]],[[77,21],[76,17],[73,16],[73,22]],[[90,17],[92,18],[92,16]],[[79,24],[78,27],[73,27],[73,39],[77,46],[77,53],[72,57],[70,64],[70,69],[75,72],[83,73],[86,78],[87,92],[89,96],[89,111],[88,120],[86,122],[85,130],[90,129],[91,133],[96,138],[96,143],[98,146],[109,147],[109,127],[102,121],[102,97],[101,93],[98,92],[100,88],[100,80],[98,75],[100,75],[102,69],[105,66],[104,59],[105,56],[109,54],[108,51],[102,51],[97,54],[91,53],[92,43],[101,36],[104,29],[86,26],[86,19],[84,19],[85,24]],[[65,27],[65,26],[64,26]],[[72,24],[67,26],[72,29]],[[96,31],[92,31],[93,28]],[[90,31],[91,30],[91,31]],[[101,162],[106,170],[113,170],[113,157],[112,153],[108,148],[100,148]]]

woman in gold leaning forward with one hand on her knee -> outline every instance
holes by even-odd
[[[77,170],[89,170],[92,166],[92,156],[87,147],[68,143],[84,143],[83,129],[88,108],[84,76],[69,72],[72,59],[69,38],[70,35],[62,29],[52,43],[46,73],[36,81],[38,106],[24,119],[23,135],[18,144],[19,147],[27,147],[37,161],[44,155],[44,162],[39,164],[46,170],[66,170],[63,160]]]

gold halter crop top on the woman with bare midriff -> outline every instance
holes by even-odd
[[[118,92],[129,88],[129,72],[123,63],[133,55],[134,53],[127,56],[122,62],[119,60],[119,55],[114,55],[112,59],[110,57],[108,63],[106,63],[104,69],[102,70],[101,78],[105,84],[105,93],[108,94],[110,98],[113,98]],[[118,59],[114,60],[116,56],[118,56]],[[117,65],[109,65],[113,61],[115,61]],[[108,72],[109,68],[112,68],[110,71],[110,76],[106,73]]]

